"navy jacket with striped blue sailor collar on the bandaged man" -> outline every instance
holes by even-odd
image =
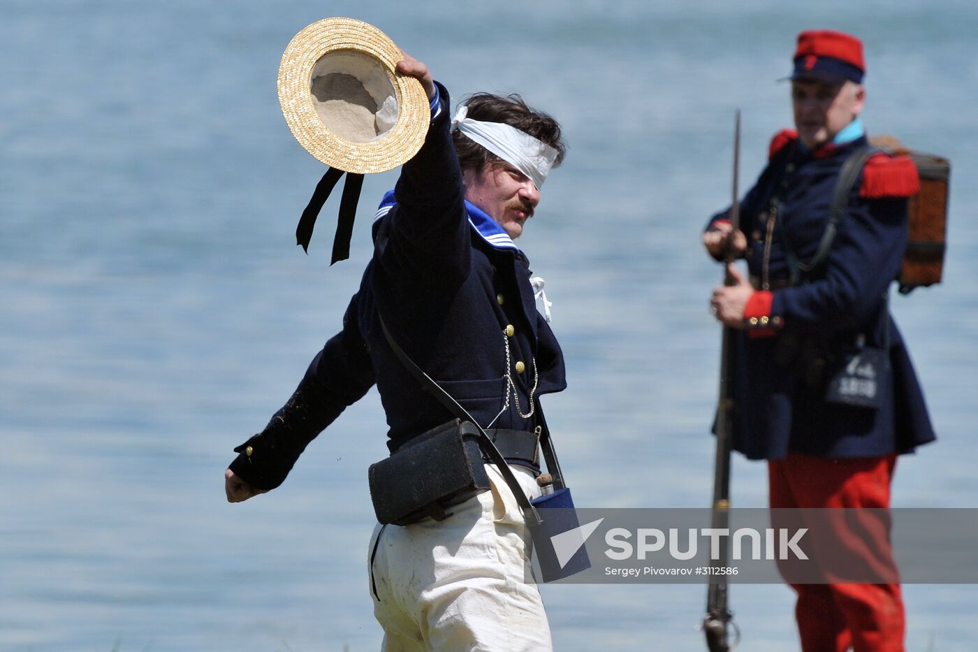
[[[538,396],[565,389],[563,355],[536,309],[529,262],[506,232],[465,201],[449,132],[449,96],[373,225],[374,256],[342,330],[231,470],[258,489],[282,484],[305,446],[374,384],[391,451],[453,415],[422,391],[393,339],[483,427],[532,432]],[[528,416],[526,416],[528,415]]]

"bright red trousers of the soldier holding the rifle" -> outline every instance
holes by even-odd
[[[789,453],[769,460],[772,508],[888,509],[896,455],[825,459]],[[890,566],[888,541],[873,562]],[[791,584],[803,652],[903,652],[904,604],[899,583]]]

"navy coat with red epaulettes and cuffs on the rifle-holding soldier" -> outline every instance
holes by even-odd
[[[733,448],[750,459],[789,451],[827,457],[911,452],[935,439],[911,358],[886,299],[907,244],[910,159],[877,155],[855,183],[824,264],[792,281],[816,255],[842,164],[867,138],[815,152],[784,130],[740,203],[755,293],[735,338]],[[730,211],[714,215],[729,219]],[[709,228],[709,225],[708,227]],[[890,382],[878,408],[828,402],[828,376],[847,351],[888,345]]]

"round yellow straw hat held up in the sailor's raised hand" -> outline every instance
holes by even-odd
[[[295,34],[279,67],[279,103],[292,135],[330,167],[369,174],[397,167],[424,142],[431,111],[421,82],[372,24],[347,18]]]

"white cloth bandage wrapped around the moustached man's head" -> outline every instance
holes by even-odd
[[[452,118],[452,131],[458,129],[473,141],[520,172],[533,179],[537,190],[544,185],[547,173],[556,161],[557,151],[528,133],[503,122],[480,122],[468,115],[468,107],[459,107]]]

